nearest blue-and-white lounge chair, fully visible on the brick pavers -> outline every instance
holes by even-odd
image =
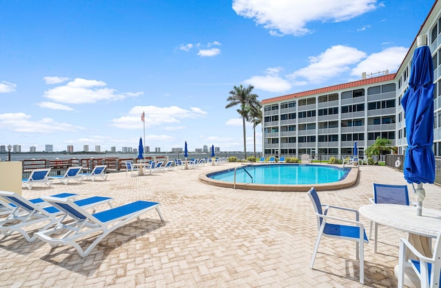
[[[157,202],[136,201],[110,210],[90,214],[68,199],[54,197],[43,197],[43,199],[65,212],[66,216],[72,217],[74,221],[65,224],[63,223],[63,218],[54,228],[37,232],[37,237],[49,243],[51,247],[70,245],[76,249],[81,257],[88,256],[90,251],[92,251],[107,234],[135,218],[139,219],[141,214],[147,211],[156,209],[161,221],[164,221],[161,210],[159,210],[160,203]],[[59,232],[63,230],[68,232],[60,235]],[[101,235],[96,237],[96,239],[83,250],[77,241],[96,234],[96,232],[101,232]],[[52,234],[55,235],[52,236]],[[57,238],[57,236],[59,236],[59,238]]]

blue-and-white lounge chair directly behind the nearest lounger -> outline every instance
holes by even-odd
[[[21,195],[14,192],[0,191],[0,197],[10,201],[15,206],[14,210],[12,210],[9,216],[0,221],[0,231],[4,236],[9,236],[12,234],[12,232],[19,232],[25,237],[26,241],[32,242],[36,239],[36,233],[30,236],[30,234],[24,230],[25,227],[49,221],[47,225],[40,229],[40,231],[47,230],[50,228],[50,226],[57,223],[59,216],[64,214],[62,211],[53,206],[41,207],[40,205],[32,203],[28,199],[25,199],[21,197]],[[63,199],[58,197],[51,198]],[[44,200],[43,197],[41,197],[41,199]],[[70,199],[65,200],[72,201]],[[87,209],[94,208],[104,203],[107,203],[110,207],[112,207],[112,203],[110,203],[110,201],[112,201],[112,198],[109,197],[90,197],[87,199],[77,200],[72,203]]]

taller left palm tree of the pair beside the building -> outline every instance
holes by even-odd
[[[245,155],[244,159],[247,159],[247,138],[245,132],[245,120],[248,118],[249,109],[248,107],[256,106],[256,102],[258,102],[258,96],[252,93],[254,87],[252,85],[248,85],[248,87],[243,87],[240,85],[237,87],[234,85],[232,91],[229,91],[230,96],[227,98],[229,103],[225,106],[226,109],[234,107],[236,105],[240,105],[240,109],[237,109],[237,112],[242,117],[243,124],[243,152]]]

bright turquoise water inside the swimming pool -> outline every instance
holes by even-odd
[[[243,166],[236,170],[236,183],[323,184],[345,179],[349,170],[348,168],[334,166],[302,164]],[[252,176],[253,181],[247,172]],[[210,173],[207,177],[220,181],[234,182],[234,169]]]

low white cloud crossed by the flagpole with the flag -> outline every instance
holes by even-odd
[[[189,110],[177,106],[156,107],[156,106],[136,106],[127,115],[112,119],[112,126],[122,129],[139,129],[142,126],[141,114],[145,112],[145,125],[178,124],[184,119],[203,118],[207,112],[197,107]]]

